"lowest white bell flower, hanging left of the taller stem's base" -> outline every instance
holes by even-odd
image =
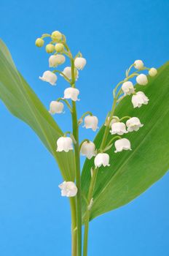
[[[61,189],[62,197],[75,197],[77,193],[77,187],[73,181],[63,181],[58,187]]]

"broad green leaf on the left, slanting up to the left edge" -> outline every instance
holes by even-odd
[[[63,178],[74,180],[74,153],[57,153],[56,140],[63,132],[17,71],[9,50],[0,40],[0,98],[9,111],[25,121],[55,157]],[[18,135],[19,136],[19,135]]]

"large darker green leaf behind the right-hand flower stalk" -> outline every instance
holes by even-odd
[[[144,91],[149,97],[148,105],[134,109],[131,97],[126,97],[117,106],[115,116],[137,116],[144,127],[125,135],[131,142],[132,151],[115,154],[114,146],[107,151],[111,166],[99,168],[90,219],[129,203],[164,176],[169,168],[169,62],[158,70],[155,78],[148,79],[147,86],[136,86],[136,91]],[[104,129],[102,127],[95,138],[97,148],[101,145]],[[84,198],[89,190],[92,166],[93,161],[84,162]],[[86,200],[83,200],[83,217],[86,207]]]

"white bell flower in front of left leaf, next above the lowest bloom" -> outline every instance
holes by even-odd
[[[58,152],[65,151],[68,152],[69,150],[73,149],[73,141],[69,137],[60,137],[57,140],[57,150]]]

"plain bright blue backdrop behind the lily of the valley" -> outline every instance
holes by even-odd
[[[169,1],[1,0],[0,36],[17,68],[47,106],[63,95],[38,79],[48,69],[47,53],[36,37],[60,30],[87,66],[77,86],[79,116],[91,110],[100,125],[111,106],[111,91],[135,59],[160,67],[168,60]],[[56,119],[69,129],[67,113]],[[0,255],[71,255],[68,200],[60,197],[58,166],[39,138],[0,102]],[[81,129],[81,138],[94,133]],[[89,256],[167,256],[169,176],[129,205],[94,219]]]

